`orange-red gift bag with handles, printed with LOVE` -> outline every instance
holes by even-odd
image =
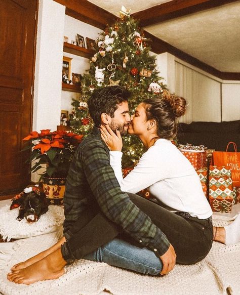
[[[233,144],[234,152],[228,152],[229,144]],[[233,186],[240,186],[240,152],[234,142],[229,142],[225,152],[213,152],[213,163],[216,166],[228,166],[231,169]]]

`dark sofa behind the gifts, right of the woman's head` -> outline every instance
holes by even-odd
[[[233,141],[237,151],[240,151],[240,120],[179,123],[177,141],[180,144],[203,144],[216,151],[225,151],[228,142]],[[233,145],[229,146],[228,151],[233,151]]]

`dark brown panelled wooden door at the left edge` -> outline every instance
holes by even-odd
[[[29,182],[22,138],[32,126],[36,0],[0,4],[0,193]],[[0,195],[1,195],[0,194]]]

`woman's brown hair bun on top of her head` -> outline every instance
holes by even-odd
[[[171,94],[168,90],[164,90],[162,99],[169,103],[175,117],[181,117],[186,112],[186,100],[183,97]]]

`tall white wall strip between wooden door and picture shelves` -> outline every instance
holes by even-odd
[[[65,6],[39,0],[33,99],[33,130],[56,130],[61,111]]]

